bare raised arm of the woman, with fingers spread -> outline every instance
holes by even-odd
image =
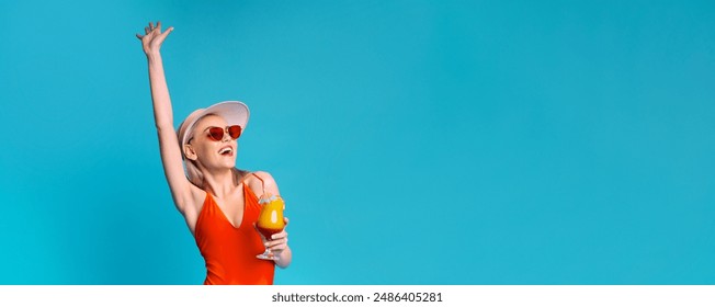
[[[192,202],[192,185],[183,170],[181,148],[179,147],[179,140],[173,128],[173,111],[171,110],[169,88],[163,75],[161,54],[159,53],[163,39],[173,31],[173,27],[161,32],[161,22],[157,22],[156,26],[149,23],[149,26],[145,27],[144,31],[145,35],[137,34],[137,38],[141,41],[141,47],[149,64],[154,120],[159,135],[159,150],[161,152],[163,172],[169,182],[171,196],[177,208],[182,214],[185,214],[185,211],[191,207],[188,204]]]

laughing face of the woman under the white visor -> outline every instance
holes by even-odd
[[[194,126],[194,133],[189,144],[192,146],[196,160],[206,169],[226,169],[236,166],[236,150],[238,143],[232,139],[226,130],[224,138],[214,140],[208,136],[208,128],[226,128],[228,124],[218,115],[207,115],[201,118]]]

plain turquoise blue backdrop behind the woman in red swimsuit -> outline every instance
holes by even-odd
[[[0,2],[1,284],[203,282],[157,20],[177,125],[251,107],[277,284],[715,284],[715,2]]]

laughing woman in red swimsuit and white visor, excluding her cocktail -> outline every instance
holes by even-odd
[[[160,22],[149,23],[145,35],[137,34],[137,38],[149,65],[164,175],[173,202],[206,262],[204,284],[273,284],[274,266],[288,266],[292,252],[285,229],[266,240],[254,228],[260,205],[253,191],[280,195],[277,184],[268,172],[236,168],[237,139],[248,123],[248,107],[232,101],[196,110],[174,133],[159,53],[172,31],[169,27],[161,32]],[[276,260],[256,258],[266,248]]]

